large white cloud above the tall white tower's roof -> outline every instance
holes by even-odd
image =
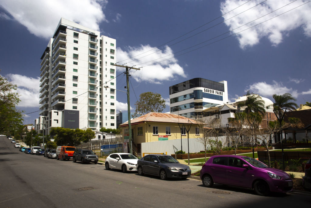
[[[0,7],[9,12],[30,33],[49,38],[61,17],[99,31],[99,23],[108,22],[102,11],[107,3],[107,0],[14,0],[1,1]]]

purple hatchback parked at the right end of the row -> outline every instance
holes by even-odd
[[[285,193],[293,190],[293,181],[286,172],[239,155],[212,156],[202,166],[200,178],[206,187],[214,183],[241,186],[252,188],[263,196],[270,191]]]

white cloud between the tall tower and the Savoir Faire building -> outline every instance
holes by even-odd
[[[154,84],[161,84],[161,81],[163,80],[174,80],[176,75],[186,77],[183,68],[177,63],[178,60],[171,58],[174,56],[170,55],[173,53],[170,47],[167,47],[162,51],[158,50],[159,49],[154,49],[149,45],[128,47],[127,51],[117,48],[117,61],[119,61],[119,65],[124,64],[134,66],[135,68],[143,67],[141,70],[136,70],[135,73],[132,74],[132,77],[137,82],[146,81]],[[168,58],[171,59],[166,60]]]

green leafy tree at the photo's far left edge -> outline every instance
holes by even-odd
[[[23,122],[23,111],[16,109],[21,101],[16,89],[17,85],[0,76],[0,132],[10,132]]]

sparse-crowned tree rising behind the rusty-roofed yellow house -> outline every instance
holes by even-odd
[[[139,95],[139,100],[135,103],[136,109],[132,118],[150,113],[162,112],[165,109],[165,100],[158,93],[144,92]]]

